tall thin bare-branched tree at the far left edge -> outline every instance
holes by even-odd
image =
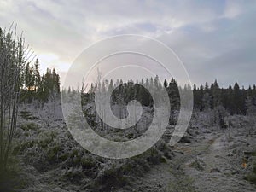
[[[25,55],[22,38],[0,28],[0,172],[7,167],[15,136],[20,74],[25,67]]]

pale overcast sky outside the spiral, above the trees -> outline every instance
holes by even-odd
[[[90,44],[134,33],[170,46],[195,84],[256,83],[256,1],[0,0],[0,26],[12,22],[61,80]]]

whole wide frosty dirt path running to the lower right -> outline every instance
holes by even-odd
[[[152,167],[137,180],[133,191],[256,191],[255,186],[239,174],[239,160],[227,157],[229,143],[226,140],[225,133],[219,132],[208,134],[199,143],[177,143],[170,148],[175,157]]]

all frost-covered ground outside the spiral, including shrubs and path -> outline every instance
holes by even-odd
[[[21,106],[0,191],[255,191],[255,117],[228,116],[230,126],[220,129],[209,116],[194,113],[174,147],[164,136],[144,154],[108,160],[75,142],[60,104]]]

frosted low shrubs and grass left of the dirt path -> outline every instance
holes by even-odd
[[[61,119],[61,105],[46,103],[43,108],[26,105],[21,106],[20,112],[14,153],[30,178],[24,191],[33,191],[35,185],[37,191],[46,191],[49,185],[60,188],[56,191],[120,189],[142,177],[150,166],[172,156],[162,140],[137,157],[105,159],[90,154],[75,142]]]

